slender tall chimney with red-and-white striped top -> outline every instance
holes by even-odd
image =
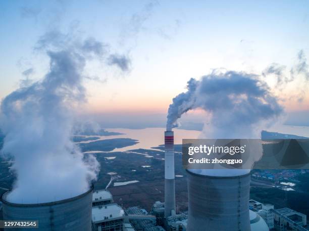
[[[165,132],[165,193],[164,217],[171,215],[175,210],[175,169],[174,169],[174,132]]]

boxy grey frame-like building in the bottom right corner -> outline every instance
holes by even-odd
[[[307,225],[307,216],[290,208],[273,210],[275,214],[275,225],[280,231],[285,230],[307,230],[302,228]],[[293,229],[294,228],[294,229]]]

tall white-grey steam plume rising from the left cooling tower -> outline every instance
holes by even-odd
[[[74,111],[86,101],[86,63],[110,55],[107,47],[57,31],[39,39],[35,49],[49,57],[47,74],[12,92],[1,105],[2,155],[13,157],[16,174],[8,201],[62,200],[84,193],[96,179],[99,164],[72,142],[72,129]]]

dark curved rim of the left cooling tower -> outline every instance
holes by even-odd
[[[78,200],[80,198],[83,198],[84,196],[86,196],[87,194],[91,193],[93,191],[93,184],[91,184],[91,187],[88,191],[79,194],[78,196],[75,197],[71,197],[71,198],[67,198],[67,199],[63,199],[63,200],[58,200],[58,201],[52,201],[52,202],[46,202],[46,203],[36,203],[36,204],[20,204],[20,203],[12,203],[7,201],[4,197],[6,196],[7,193],[9,193],[11,190],[8,190],[6,192],[4,192],[1,197],[0,197],[0,201],[3,202],[6,205],[10,205],[13,207],[39,207],[39,206],[50,206],[50,205],[56,205],[56,204],[64,204],[67,202],[71,202],[74,200]]]

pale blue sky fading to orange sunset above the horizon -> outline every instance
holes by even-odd
[[[164,114],[190,78],[214,68],[261,74],[279,63],[288,75],[300,50],[309,60],[308,1],[120,2],[2,1],[0,98],[19,87],[23,71],[32,68],[28,78],[34,81],[47,72],[47,56],[33,48],[54,29],[94,37],[130,58],[125,72],[90,66],[90,75],[100,81],[85,81],[85,114]],[[299,75],[274,94],[288,112],[304,111],[309,110],[307,89]]]

